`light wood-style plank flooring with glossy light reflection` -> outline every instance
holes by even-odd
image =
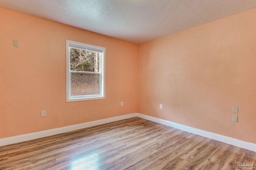
[[[236,156],[256,165],[256,152],[134,117],[0,147],[0,170],[240,170]]]

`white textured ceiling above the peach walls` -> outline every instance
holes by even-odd
[[[0,0],[0,7],[141,44],[256,7],[256,0]]]

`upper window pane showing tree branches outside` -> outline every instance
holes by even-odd
[[[70,47],[70,70],[99,72],[99,53]]]

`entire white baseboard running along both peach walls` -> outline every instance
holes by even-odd
[[[104,124],[104,123],[110,123],[110,122],[113,122],[113,121],[128,119],[128,118],[132,118],[132,117],[140,117],[140,118],[143,118],[143,119],[154,121],[156,123],[161,123],[163,125],[174,127],[176,129],[180,129],[182,131],[190,132],[190,133],[193,133],[193,134],[196,134],[196,135],[200,135],[200,136],[203,136],[203,137],[214,139],[216,141],[220,141],[220,142],[223,142],[223,143],[234,145],[236,147],[240,147],[240,148],[244,148],[244,149],[248,149],[248,150],[252,150],[252,151],[256,152],[256,144],[254,144],[254,143],[240,141],[238,139],[234,139],[234,138],[231,138],[231,137],[226,137],[226,136],[219,135],[219,134],[216,134],[216,133],[196,129],[196,128],[193,128],[193,127],[188,127],[188,126],[185,126],[185,125],[180,125],[178,123],[174,123],[174,122],[171,122],[171,121],[166,121],[166,120],[159,119],[159,118],[156,118],[156,117],[151,117],[151,116],[148,116],[148,115],[143,115],[143,114],[140,114],[140,113],[133,113],[133,114],[128,114],[128,115],[111,117],[111,118],[108,118],[108,119],[90,121],[90,122],[81,123],[81,124],[77,124],[77,125],[60,127],[60,128],[50,129],[50,130],[46,130],[46,131],[40,131],[40,132],[36,132],[36,133],[28,133],[28,134],[25,134],[25,135],[18,135],[18,136],[14,136],[14,137],[3,138],[3,139],[0,139],[0,147],[5,146],[5,145],[14,144],[14,143],[20,143],[20,142],[24,142],[24,141],[38,139],[38,138],[42,138],[42,137],[57,135],[57,134],[65,133],[65,132],[69,132],[69,131],[75,131],[75,130],[83,129],[83,128],[86,128],[86,127],[101,125],[101,124]]]

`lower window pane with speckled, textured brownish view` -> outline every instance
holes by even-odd
[[[71,96],[100,94],[100,75],[71,73]]]

